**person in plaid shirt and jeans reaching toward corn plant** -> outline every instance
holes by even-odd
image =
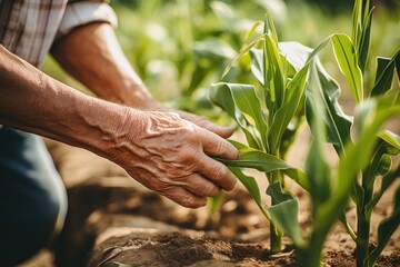
[[[137,76],[100,0],[0,0],[0,266],[43,247],[66,190],[39,136],[88,149],[146,187],[197,208],[236,177],[232,129],[161,105]],[[41,72],[48,52],[97,97]],[[166,88],[168,90],[168,88]]]

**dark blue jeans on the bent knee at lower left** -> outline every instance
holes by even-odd
[[[49,244],[67,214],[67,194],[40,137],[0,129],[0,266]]]

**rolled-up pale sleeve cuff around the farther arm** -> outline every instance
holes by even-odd
[[[69,1],[62,17],[56,40],[68,34],[73,28],[90,22],[103,21],[117,27],[117,16],[108,1]]]

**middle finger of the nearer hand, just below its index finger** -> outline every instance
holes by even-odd
[[[208,157],[207,155],[201,157],[196,171],[227,191],[232,190],[237,184],[236,176],[227,166]]]

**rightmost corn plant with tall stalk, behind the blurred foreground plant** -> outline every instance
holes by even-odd
[[[364,107],[361,111],[361,121],[358,121],[358,132],[361,135],[366,129],[366,125],[373,118],[370,111],[371,107],[377,106],[380,99],[391,98],[392,102],[387,105],[397,110],[399,115],[399,69],[400,69],[400,50],[392,58],[377,58],[374,70],[374,81],[371,89],[364,88],[367,79],[367,63],[370,55],[370,34],[373,8],[370,7],[368,0],[356,0],[352,18],[352,37],[347,34],[332,34],[327,38],[314,51],[318,53],[329,41],[332,42],[334,56],[340,70],[344,75],[349,87],[352,91],[357,105]],[[397,78],[396,78],[397,71]],[[323,87],[323,96],[329,97],[329,87]],[[364,96],[366,95],[366,96]],[[329,105],[326,105],[329,111]],[[386,107],[378,105],[379,109],[386,110]],[[317,113],[313,116],[318,116]],[[334,120],[327,120],[328,141],[332,142],[340,159],[348,157],[349,151],[343,145],[351,144],[350,129],[343,131],[332,131],[339,129],[339,125]],[[382,253],[390,236],[394,233],[400,224],[400,187],[397,188],[393,199],[393,211],[382,220],[378,226],[376,245],[370,241],[371,216],[374,207],[381,199],[384,191],[400,177],[400,167],[392,167],[392,157],[400,155],[400,137],[389,130],[378,131],[369,136],[373,140],[373,147],[368,155],[366,165],[360,166],[358,172],[353,174],[351,199],[357,208],[357,229],[353,230],[346,221],[344,211],[340,216],[340,220],[354,239],[357,244],[356,259],[358,267],[373,266]],[[339,140],[339,141],[338,141]],[[376,187],[377,178],[381,179],[379,189]],[[357,179],[358,178],[358,179]]]

